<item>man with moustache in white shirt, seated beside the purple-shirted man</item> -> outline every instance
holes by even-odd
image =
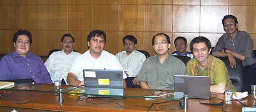
[[[74,37],[71,34],[64,34],[61,37],[61,45],[63,49],[53,52],[44,65],[50,73],[51,80],[63,80],[63,83],[66,83],[74,58],[81,54],[73,51]]]

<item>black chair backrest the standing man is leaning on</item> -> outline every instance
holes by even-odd
[[[225,65],[228,69],[228,76],[229,76],[230,80],[232,81],[232,85],[235,86],[235,90],[245,91],[243,88],[243,86],[245,86],[245,83],[243,82],[242,61],[239,60],[238,58],[235,58],[236,67],[231,68],[228,57],[217,57],[217,58],[220,58],[220,60],[222,60],[225,63]]]

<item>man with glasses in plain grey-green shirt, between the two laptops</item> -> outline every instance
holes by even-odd
[[[137,83],[145,89],[174,90],[173,77],[185,74],[185,64],[169,54],[171,42],[168,35],[154,35],[152,45],[156,55],[146,58],[138,73]]]

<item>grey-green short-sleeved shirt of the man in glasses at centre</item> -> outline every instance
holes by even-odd
[[[145,81],[151,89],[174,90],[174,75],[185,74],[185,64],[182,60],[168,55],[160,63],[158,55],[146,58],[138,74],[137,83]]]

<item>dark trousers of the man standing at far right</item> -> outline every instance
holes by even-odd
[[[248,91],[248,93],[251,93],[250,85],[255,84],[255,72],[253,65],[247,65],[243,67],[243,83],[245,83],[243,86],[244,90]]]

